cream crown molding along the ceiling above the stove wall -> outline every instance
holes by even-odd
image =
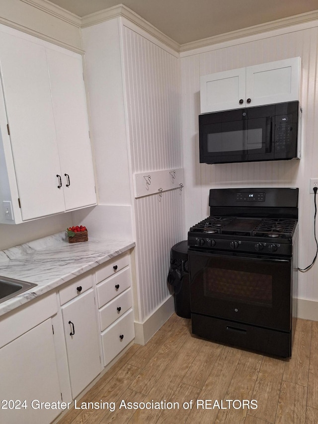
[[[213,37],[204,38],[202,40],[197,40],[190,43],[181,44],[179,52],[182,53],[189,50],[195,50],[202,47],[208,47],[214,44],[220,44],[227,41],[233,41],[235,39],[249,37],[252,35],[257,35],[264,32],[273,31],[276,29],[283,29],[293,25],[312,22],[314,20],[318,20],[318,10],[314,10],[307,13],[301,13],[299,15],[294,15],[287,18],[277,19],[271,22],[266,22],[259,25],[250,26],[248,28],[243,28],[236,31],[226,32],[224,34],[215,35]]]

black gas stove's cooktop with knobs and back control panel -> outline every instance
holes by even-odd
[[[210,216],[188,232],[189,249],[290,256],[298,188],[211,189]]]

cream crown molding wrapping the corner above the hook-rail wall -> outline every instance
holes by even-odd
[[[161,41],[163,44],[170,47],[174,51],[180,51],[179,43],[172,40],[167,35],[163,34],[163,32],[159,31],[159,29],[157,29],[154,25],[146,21],[146,19],[139,16],[137,13],[135,13],[133,10],[131,10],[124,4],[118,4],[117,6],[109,7],[108,9],[104,9],[99,12],[83,16],[81,19],[81,27],[85,28],[87,26],[96,25],[97,23],[101,23],[106,20],[120,16],[125,17],[134,24],[138,25],[139,27],[156,37],[159,41]]]

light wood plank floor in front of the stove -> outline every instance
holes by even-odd
[[[251,400],[257,409],[248,408]],[[174,314],[77,403],[100,401],[114,402],[115,410],[73,409],[59,424],[318,423],[318,322],[298,320],[292,358],[280,359],[194,337],[190,320]],[[174,409],[141,409],[151,401],[174,402]]]

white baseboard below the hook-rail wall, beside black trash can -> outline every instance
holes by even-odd
[[[135,343],[146,344],[174,312],[174,299],[169,296],[144,323],[135,322]]]

